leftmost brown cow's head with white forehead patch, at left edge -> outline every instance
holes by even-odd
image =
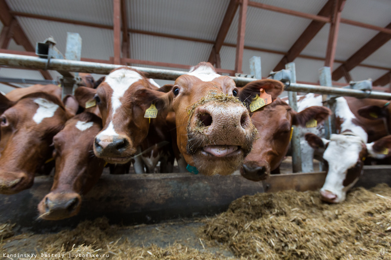
[[[3,96],[3,98],[6,98]],[[74,115],[46,92],[8,101],[0,116],[0,193],[13,194],[33,185],[35,173],[52,157],[53,136]]]

